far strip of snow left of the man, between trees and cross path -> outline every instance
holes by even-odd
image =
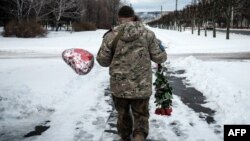
[[[52,55],[60,55],[68,48],[83,48],[96,54],[105,32],[105,30],[87,31],[84,34],[66,31],[51,32],[46,38],[15,38],[14,42],[12,37],[0,38],[0,48],[2,52],[7,53]]]

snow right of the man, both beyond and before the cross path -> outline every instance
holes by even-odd
[[[204,37],[192,35],[190,31],[152,30],[165,41],[169,54],[250,52],[250,36],[246,35],[231,34],[231,39],[226,40],[224,33],[218,33],[214,39],[212,32]],[[169,62],[175,70],[186,70],[179,77],[187,77],[187,83],[207,97],[206,106],[217,111],[217,122],[222,125],[250,123],[250,112],[246,112],[250,108],[247,102],[250,100],[250,60],[204,61],[188,56]]]

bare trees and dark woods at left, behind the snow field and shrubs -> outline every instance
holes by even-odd
[[[35,20],[56,26],[72,21],[90,22],[98,28],[115,24],[120,0],[1,0],[0,24],[10,20]]]

